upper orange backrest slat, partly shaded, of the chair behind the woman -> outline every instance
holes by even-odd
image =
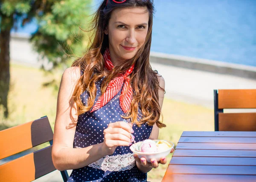
[[[0,159],[49,142],[53,132],[47,117],[0,131]]]

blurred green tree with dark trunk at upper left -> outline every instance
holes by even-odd
[[[67,62],[72,52],[81,48],[92,0],[1,0],[0,1],[0,105],[8,117],[7,97],[10,83],[10,31],[26,15],[22,25],[36,18],[39,28],[30,38],[41,58],[56,67]],[[81,49],[80,49],[81,51]],[[26,53],[24,53],[26,54]]]

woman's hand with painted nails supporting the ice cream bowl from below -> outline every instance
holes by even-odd
[[[170,153],[174,152],[174,149]],[[138,158],[137,154],[134,154],[134,159],[136,160],[137,167],[140,169],[140,171],[147,173],[152,168],[158,168],[159,164],[166,164],[167,159],[166,157],[163,157],[160,159],[160,161],[157,161],[156,159],[151,159],[151,162],[147,162],[147,160],[142,157]]]

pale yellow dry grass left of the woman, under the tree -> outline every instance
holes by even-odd
[[[44,82],[60,80],[61,74],[45,74],[36,68],[11,65],[11,90],[9,92],[9,118],[0,117],[0,125],[10,127],[48,116],[54,125],[57,91],[44,87]],[[0,110],[0,116],[3,110]]]

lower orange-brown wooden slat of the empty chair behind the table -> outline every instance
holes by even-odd
[[[256,131],[256,113],[219,113],[219,131]]]

